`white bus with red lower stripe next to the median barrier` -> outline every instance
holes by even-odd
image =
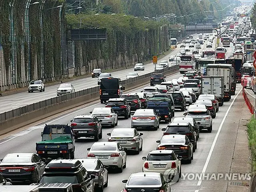
[[[187,71],[193,71],[195,67],[194,55],[182,55],[180,56],[180,73],[186,73]]]

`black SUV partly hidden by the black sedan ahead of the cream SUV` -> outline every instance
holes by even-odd
[[[197,148],[197,142],[196,142],[196,132],[194,131],[193,126],[188,123],[169,123],[166,128],[162,128],[162,131],[164,131],[164,135],[173,135],[173,134],[181,134],[186,135],[190,142],[193,144],[193,152],[195,152]]]

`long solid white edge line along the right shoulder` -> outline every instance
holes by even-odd
[[[204,164],[204,168],[203,168],[203,170],[202,170],[202,174],[205,173],[206,168],[207,168],[207,166],[208,166],[208,164],[209,164],[209,162],[210,162],[210,158],[211,158],[211,156],[212,156],[212,152],[213,152],[214,147],[215,147],[215,145],[216,145],[216,142],[217,142],[218,136],[219,136],[219,134],[220,134],[220,131],[221,131],[221,129],[222,129],[222,126],[223,126],[223,124],[224,124],[224,122],[225,122],[225,120],[226,120],[226,118],[227,118],[227,116],[228,116],[228,113],[229,113],[229,111],[230,111],[232,105],[234,104],[236,98],[238,97],[238,95],[240,94],[241,91],[242,91],[242,88],[239,90],[238,94],[236,95],[236,97],[234,98],[234,100],[232,101],[232,103],[230,104],[230,106],[229,106],[229,108],[228,108],[228,110],[227,110],[225,116],[224,116],[223,119],[222,119],[222,122],[220,123],[220,126],[219,126],[219,128],[218,128],[218,132],[217,132],[217,134],[216,134],[216,136],[215,136],[215,138],[214,138],[214,140],[213,140],[213,142],[212,142],[212,146],[211,146],[210,152],[209,152],[208,157],[207,157],[207,159],[206,159],[206,162],[205,162],[205,164]],[[200,186],[201,183],[202,183],[202,179],[198,181],[197,186]]]

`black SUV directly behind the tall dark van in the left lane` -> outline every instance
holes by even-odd
[[[106,107],[111,107],[117,116],[131,117],[131,107],[125,98],[112,98],[106,102]]]

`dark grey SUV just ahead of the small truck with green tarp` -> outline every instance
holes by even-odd
[[[99,120],[96,116],[76,115],[70,122],[75,139],[90,137],[94,138],[94,141],[98,141],[102,138],[102,126],[100,124],[102,120]]]

